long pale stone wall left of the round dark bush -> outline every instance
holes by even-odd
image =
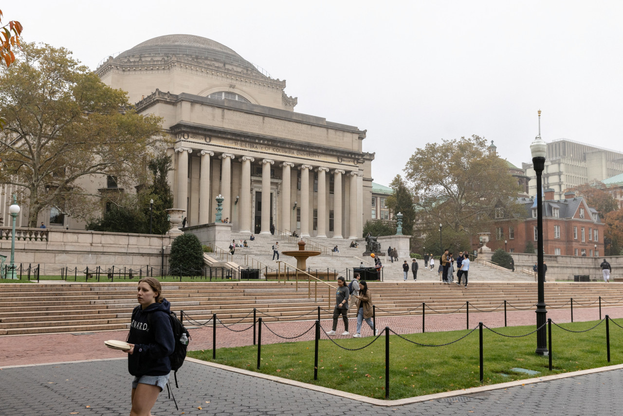
[[[11,256],[11,228],[2,227],[0,254]],[[40,238],[42,231],[45,238]],[[150,266],[160,269],[164,249],[164,266],[173,238],[167,235],[102,233],[99,231],[16,229],[15,263],[36,266],[40,274],[60,274],[61,268],[133,268]]]

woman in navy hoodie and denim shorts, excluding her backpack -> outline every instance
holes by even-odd
[[[169,301],[162,296],[160,282],[144,278],[138,282],[139,305],[132,311],[128,344],[128,370],[132,382],[130,416],[150,416],[158,394],[169,380],[175,342],[169,321]]]

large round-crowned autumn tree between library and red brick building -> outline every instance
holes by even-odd
[[[442,223],[444,231],[473,236],[488,229],[497,208],[504,218],[522,213],[516,203],[520,187],[506,161],[489,153],[477,135],[417,148],[404,172],[422,223],[429,225],[421,228],[427,235],[438,234]]]

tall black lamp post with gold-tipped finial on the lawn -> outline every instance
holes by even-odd
[[[537,232],[537,249],[536,249],[536,265],[537,265],[537,281],[538,281],[538,299],[536,302],[536,327],[540,328],[536,332],[536,354],[546,356],[549,354],[547,349],[546,336],[546,314],[545,309],[545,269],[543,268],[543,193],[541,192],[541,175],[545,169],[545,153],[547,144],[541,139],[541,110],[539,110],[539,134],[535,141],[530,145],[530,153],[532,153],[532,163],[536,173],[536,232]]]

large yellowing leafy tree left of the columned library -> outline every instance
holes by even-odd
[[[100,197],[81,186],[92,175],[111,175],[120,188],[146,183],[160,117],[136,114],[125,92],[67,49],[22,44],[19,55],[0,73],[0,182],[22,188],[28,226],[49,206],[87,217]]]

